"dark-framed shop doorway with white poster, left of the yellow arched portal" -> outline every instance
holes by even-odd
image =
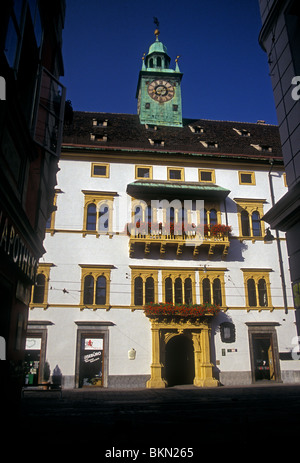
[[[102,386],[103,338],[82,337],[79,387]]]

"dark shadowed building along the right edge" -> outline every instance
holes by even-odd
[[[297,1],[260,0],[259,42],[267,53],[282,144],[288,191],[268,211],[265,220],[286,232],[294,305],[300,308],[299,176],[300,176],[300,8]],[[299,312],[296,312],[299,330]]]

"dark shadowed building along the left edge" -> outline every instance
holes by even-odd
[[[5,1],[0,10],[0,368],[1,387],[20,395],[63,126],[65,3]]]

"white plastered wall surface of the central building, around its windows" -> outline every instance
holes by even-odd
[[[108,165],[107,176],[92,176],[92,164],[95,162]],[[109,152],[105,153],[103,149],[96,154],[90,151],[81,156],[70,149],[63,151],[58,172],[57,210],[53,213],[44,243],[46,253],[40,262],[40,269],[47,269],[48,291],[43,303],[31,303],[29,315],[28,337],[44,336],[41,361],[49,362],[52,373],[56,367],[59,368],[63,387],[81,386],[78,334],[88,333],[86,336],[91,338],[103,335],[101,385],[145,387],[150,378],[152,362],[151,323],[145,316],[143,307],[135,307],[133,303],[132,279],[135,270],[142,268],[142,273],[145,273],[150,268],[150,273],[155,272],[157,302],[163,302],[164,270],[168,269],[170,273],[192,273],[195,278],[193,292],[197,304],[203,302],[200,283],[203,271],[206,270],[207,274],[220,271],[224,278],[222,310],[213,319],[211,330],[214,377],[219,384],[224,385],[249,384],[255,381],[251,363],[254,348],[250,341],[250,334],[254,332],[262,333],[261,338],[275,333],[277,346],[273,344],[274,338],[270,343],[277,372],[272,379],[298,381],[300,363],[296,354],[291,355],[293,349],[298,349],[295,349],[297,332],[285,235],[280,233],[287,293],[286,308],[276,240],[266,244],[264,233],[255,237],[241,236],[238,220],[237,204],[241,199],[244,202],[263,200],[261,204],[264,213],[271,207],[270,166],[267,163],[249,166],[249,163],[241,160],[227,163],[213,160],[209,163],[197,159],[191,163],[178,158],[175,166],[184,168],[185,183],[198,182],[199,169],[211,169],[215,175],[214,184],[230,190],[225,200],[226,207],[223,200],[219,202],[221,223],[228,223],[232,227],[228,254],[222,256],[216,253],[209,256],[206,250],[200,249],[199,255],[192,256],[192,252],[183,249],[180,256],[177,256],[173,248],[169,249],[167,246],[164,255],[160,255],[158,249],[144,254],[142,248],[137,249],[130,257],[130,237],[122,232],[131,216],[132,198],[126,189],[128,184],[136,181],[136,166],[143,164],[152,166],[153,180],[162,181],[168,180],[167,167],[174,167],[171,159],[161,157],[158,161],[157,158],[151,159],[151,156],[146,159],[145,154],[137,152],[132,154],[131,159],[127,156],[122,162],[121,155],[114,156]],[[254,184],[240,184],[241,171],[251,171],[255,176]],[[280,166],[274,167],[271,175],[277,201],[287,190],[284,171]],[[84,233],[85,198],[88,192],[98,192],[102,196],[113,193],[113,233]],[[45,264],[52,265],[43,267]],[[104,272],[109,271],[108,304],[105,307],[88,307],[82,304],[82,269],[87,266],[100,266]],[[249,307],[247,304],[247,272],[267,275],[270,286],[266,306],[257,304],[256,307]],[[235,337],[232,342],[223,342],[221,339],[220,324],[224,321],[230,321],[234,325]],[[133,359],[130,358],[131,349],[135,350]]]

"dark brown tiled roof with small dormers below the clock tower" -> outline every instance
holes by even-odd
[[[183,127],[147,128],[132,114],[74,111],[73,122],[64,127],[63,150],[64,145],[282,159],[275,125],[184,119]]]

